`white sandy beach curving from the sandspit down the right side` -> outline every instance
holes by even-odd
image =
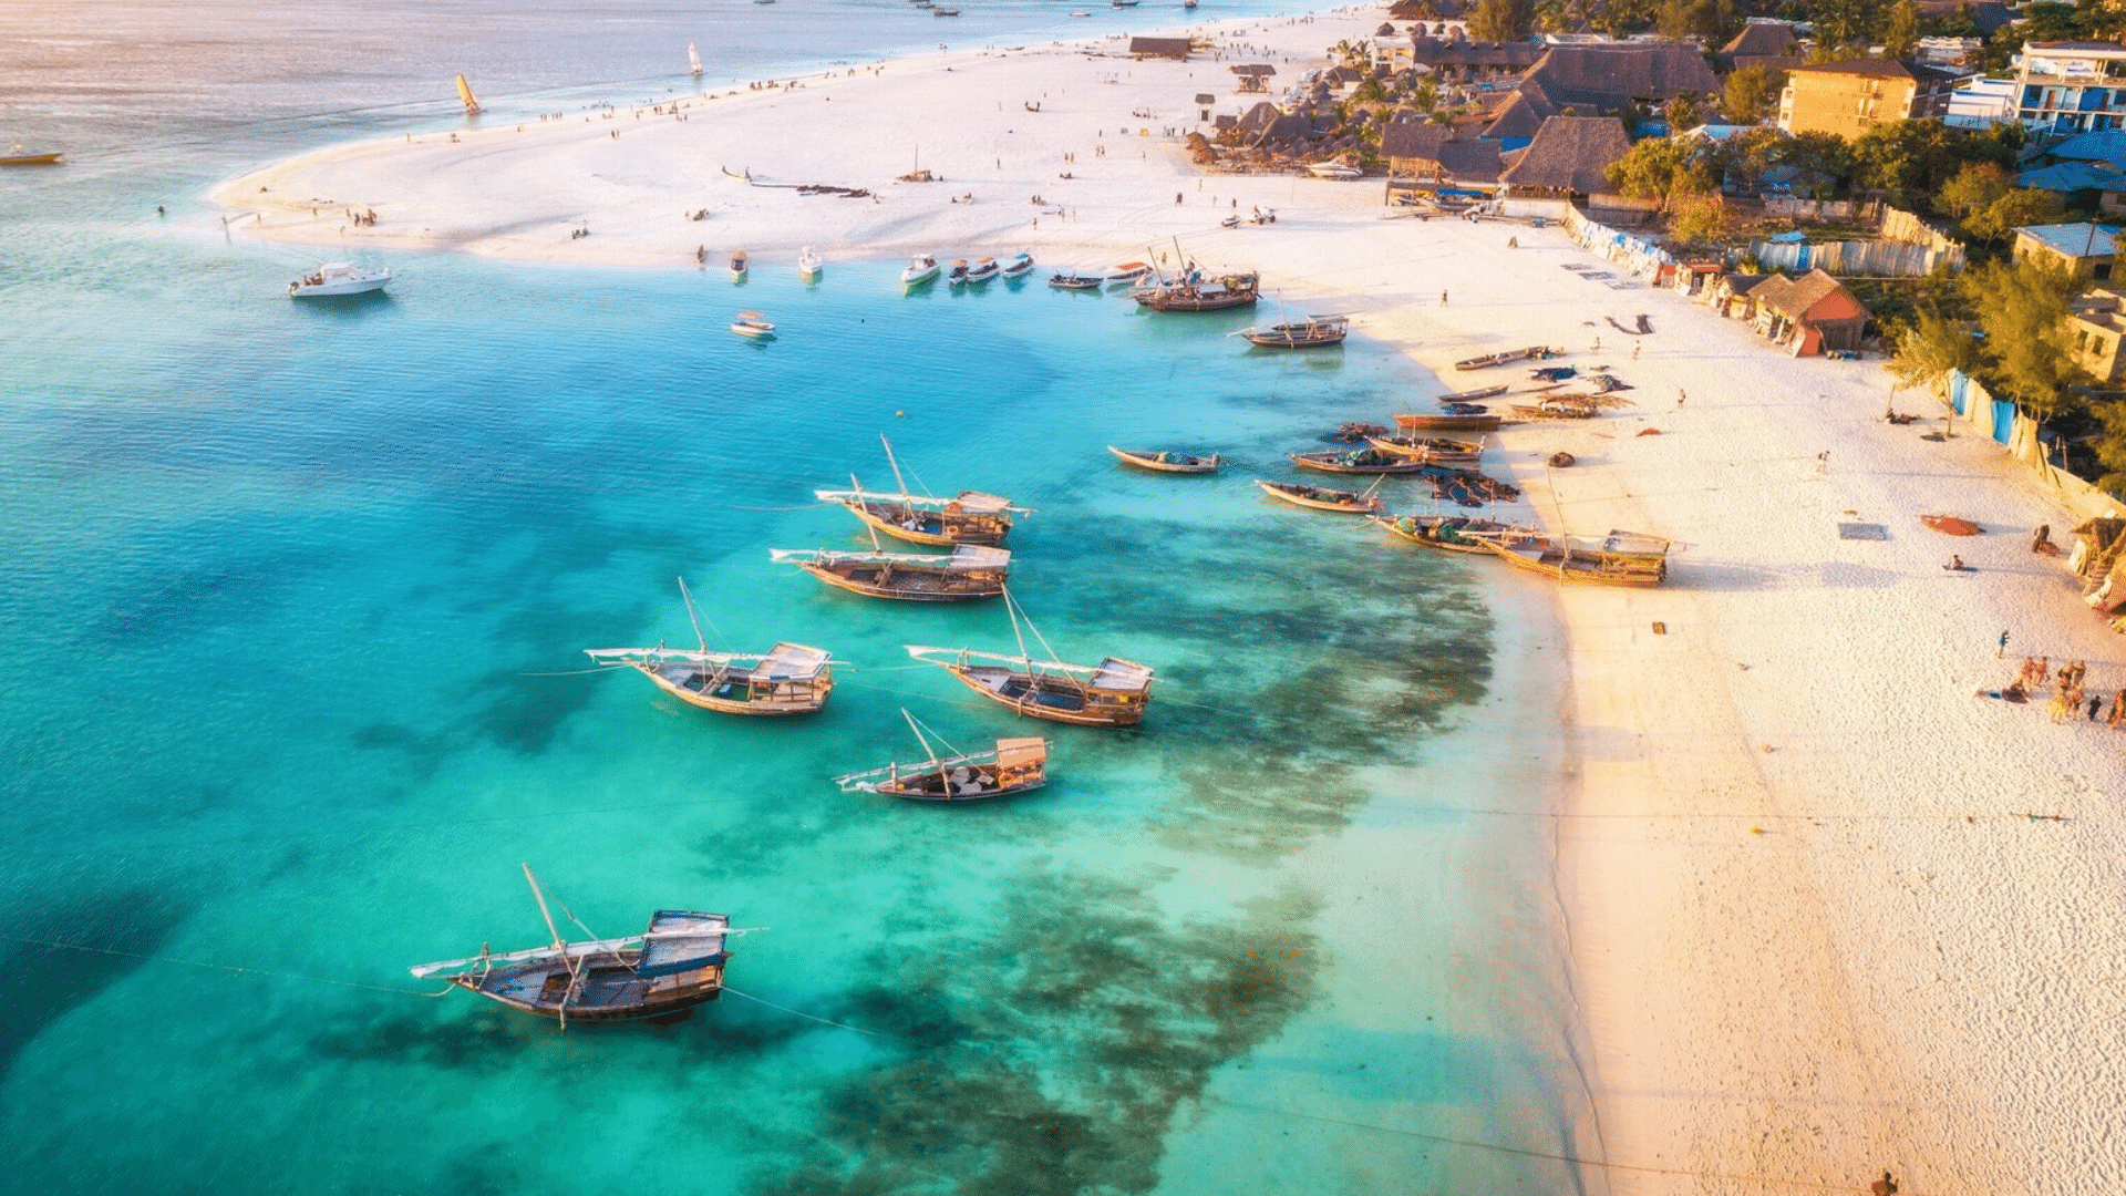
[[[1273,47],[1286,83],[1380,19],[1218,32]],[[2026,547],[2037,524],[2064,538],[2073,519],[1994,445],[1924,438],[1939,419],[1888,426],[1877,360],[1796,362],[1669,292],[1582,279],[1560,266],[1590,258],[1558,230],[1390,219],[1378,179],[1193,166],[1161,132],[1205,128],[1197,92],[1237,111],[1227,66],[1256,55],[1091,49],[955,49],[676,113],[485,115],[457,140],[276,164],[219,200],[261,213],[240,230],[325,255],[691,270],[697,249],[708,268],[748,249],[782,270],[816,245],[829,285],[836,258],[1029,249],[1044,268],[1099,266],[1178,238],[1263,270],[1295,309],[1354,313],[1450,383],[1456,358],[1509,345],[1612,364],[1637,409],[1512,428],[1488,455],[1552,528],[1682,545],[1660,589],[1554,596],[1571,670],[1554,883],[1582,1017],[1567,1032],[1588,1051],[1558,1083],[1594,1100],[1586,1187],[1865,1192],[1892,1170],[1905,1196],[2126,1190],[2126,732],[1973,698],[2026,651],[2088,660],[2107,698],[2126,685],[2122,643]],[[944,181],[895,181],[916,164]],[[1220,230],[1235,204],[1278,221]],[[1643,338],[1605,321],[1639,313]],[[1556,449],[1580,464],[1548,470]],[[1922,513],[1990,534],[1954,541]],[[1841,541],[1839,521],[1890,538]],[[1975,572],[1945,572],[1952,551]]]

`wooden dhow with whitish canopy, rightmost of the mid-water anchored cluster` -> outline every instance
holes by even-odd
[[[961,685],[1025,717],[1108,728],[1144,721],[1144,707],[1152,700],[1150,666],[1118,655],[1099,664],[1063,664],[1033,619],[1025,619],[1020,628],[1023,611],[1016,598],[1006,594],[1003,609],[1012,617],[1018,655],[972,647],[904,647],[908,655],[944,668],[959,677]],[[1033,632],[1048,660],[1035,660],[1027,651],[1027,632]]]

